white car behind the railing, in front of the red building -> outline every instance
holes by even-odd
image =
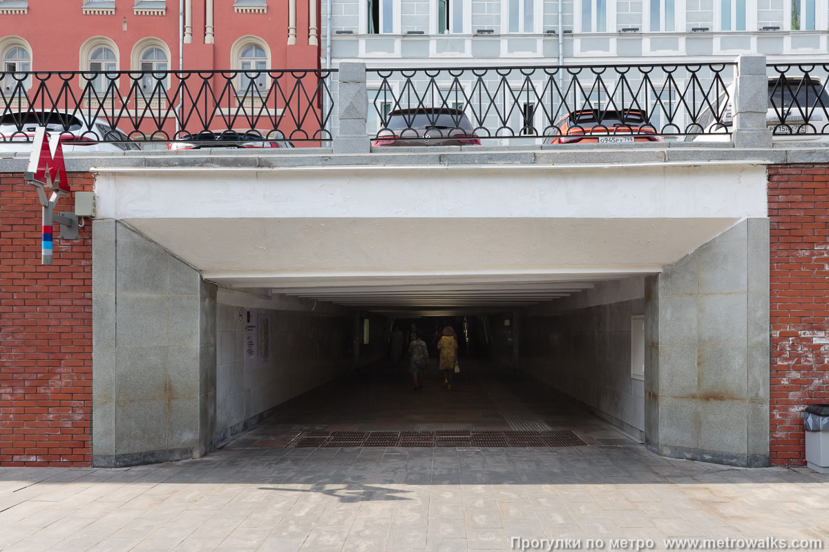
[[[37,127],[61,134],[63,151],[128,151],[140,150],[124,132],[103,119],[92,124],[78,115],[59,111],[27,111],[5,113],[0,117],[0,152],[28,153]]]

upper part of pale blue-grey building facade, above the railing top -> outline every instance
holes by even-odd
[[[829,60],[827,0],[332,0],[331,21],[333,67],[550,64],[560,43],[565,65]]]

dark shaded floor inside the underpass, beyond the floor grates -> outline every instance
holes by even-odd
[[[290,401],[230,444],[284,447],[309,431],[571,430],[587,444],[629,443],[602,420],[529,378],[467,361],[451,391],[436,369],[413,391],[402,368],[372,367]]]

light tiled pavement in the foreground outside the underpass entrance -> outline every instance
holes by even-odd
[[[660,458],[603,444],[599,428],[608,440],[613,430],[570,418],[592,445],[269,449],[243,438],[179,463],[0,468],[0,549],[511,550],[521,537],[662,550],[666,537],[829,536],[827,476]]]

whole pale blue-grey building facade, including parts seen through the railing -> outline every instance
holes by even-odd
[[[366,63],[369,135],[392,110],[438,107],[463,110],[479,137],[543,142],[574,110],[634,108],[665,139],[683,140],[710,132],[697,124],[706,109],[730,118],[725,87],[738,55],[765,55],[769,65],[829,62],[827,0],[331,0],[323,22],[329,8],[322,67]],[[726,66],[664,67],[689,63]],[[584,67],[647,64],[663,67]],[[557,65],[569,69],[549,69]],[[516,69],[527,67],[536,69]],[[338,126],[335,113],[332,131]]]

